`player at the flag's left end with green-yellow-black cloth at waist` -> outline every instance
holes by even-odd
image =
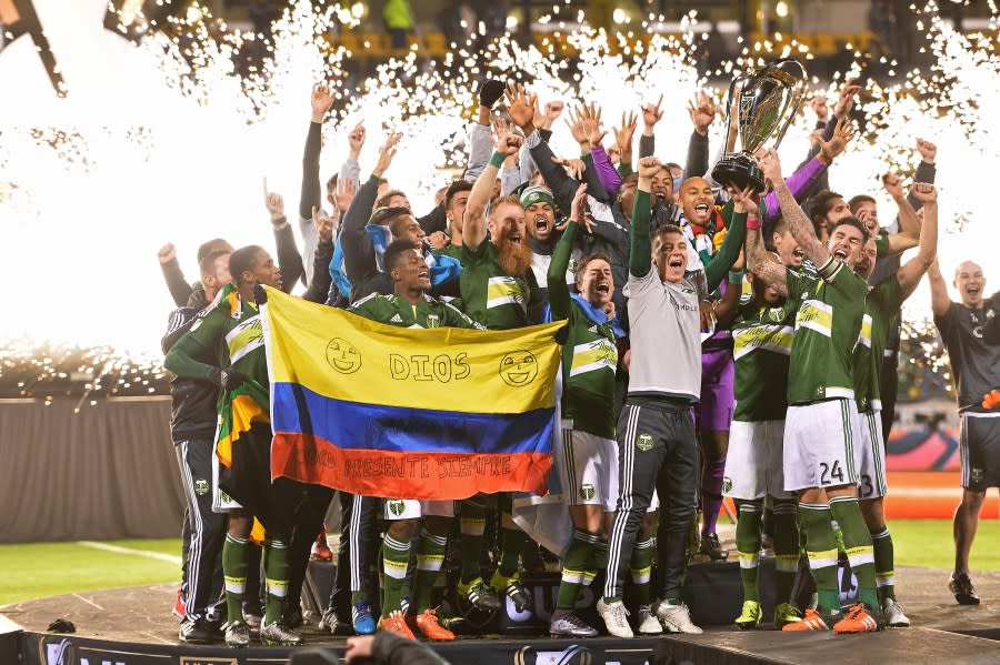
[[[260,638],[264,644],[297,646],[302,637],[283,624],[281,615],[288,585],[289,521],[301,486],[297,488],[282,478],[271,483],[268,367],[260,313],[253,296],[257,284],[279,289],[281,272],[268,252],[257,245],[234,251],[229,258],[229,271],[236,288],[227,288],[214,305],[201,314],[191,331],[167,354],[164,365],[178,376],[210,381],[222,389],[221,431],[229,432],[232,445],[223,450],[223,442],[217,442],[217,455],[230,465],[228,476],[220,478],[220,487],[240,503],[240,507],[230,511],[229,533],[222,545],[229,616],[226,643],[232,647],[250,644],[241,604],[248,538],[256,517],[268,532],[263,558],[267,603]],[[218,364],[198,360],[206,352],[214,352]],[[252,414],[248,416],[249,429],[243,432],[234,429],[237,402]]]

